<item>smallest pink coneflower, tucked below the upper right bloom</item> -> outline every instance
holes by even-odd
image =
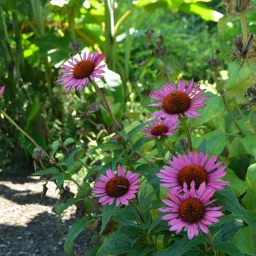
[[[157,120],[148,122],[149,127],[143,127],[143,132],[147,132],[147,135],[144,135],[144,138],[157,138],[160,139],[164,136],[171,136],[176,131],[178,127],[177,121],[165,121]]]

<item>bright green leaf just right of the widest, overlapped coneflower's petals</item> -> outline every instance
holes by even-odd
[[[237,197],[243,195],[244,192],[246,192],[246,189],[248,189],[246,181],[238,178],[233,170],[227,169],[227,174],[224,179],[225,181],[230,181],[229,187],[233,190]]]

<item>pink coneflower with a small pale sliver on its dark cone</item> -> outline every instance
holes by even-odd
[[[118,165],[118,175],[113,173],[113,170],[108,169],[106,176],[99,176],[99,181],[94,184],[93,192],[95,197],[99,198],[99,203],[102,205],[112,205],[116,199],[116,206],[124,204],[128,206],[128,199],[135,198],[135,194],[139,189],[139,173],[125,173],[125,167]]]

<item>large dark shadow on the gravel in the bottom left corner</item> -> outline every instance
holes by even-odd
[[[68,232],[75,219],[61,222],[61,230]],[[56,215],[44,212],[38,214],[25,227],[0,225],[1,256],[64,256],[64,235],[56,230]],[[84,231],[76,239],[73,255],[85,255],[90,234]]]

